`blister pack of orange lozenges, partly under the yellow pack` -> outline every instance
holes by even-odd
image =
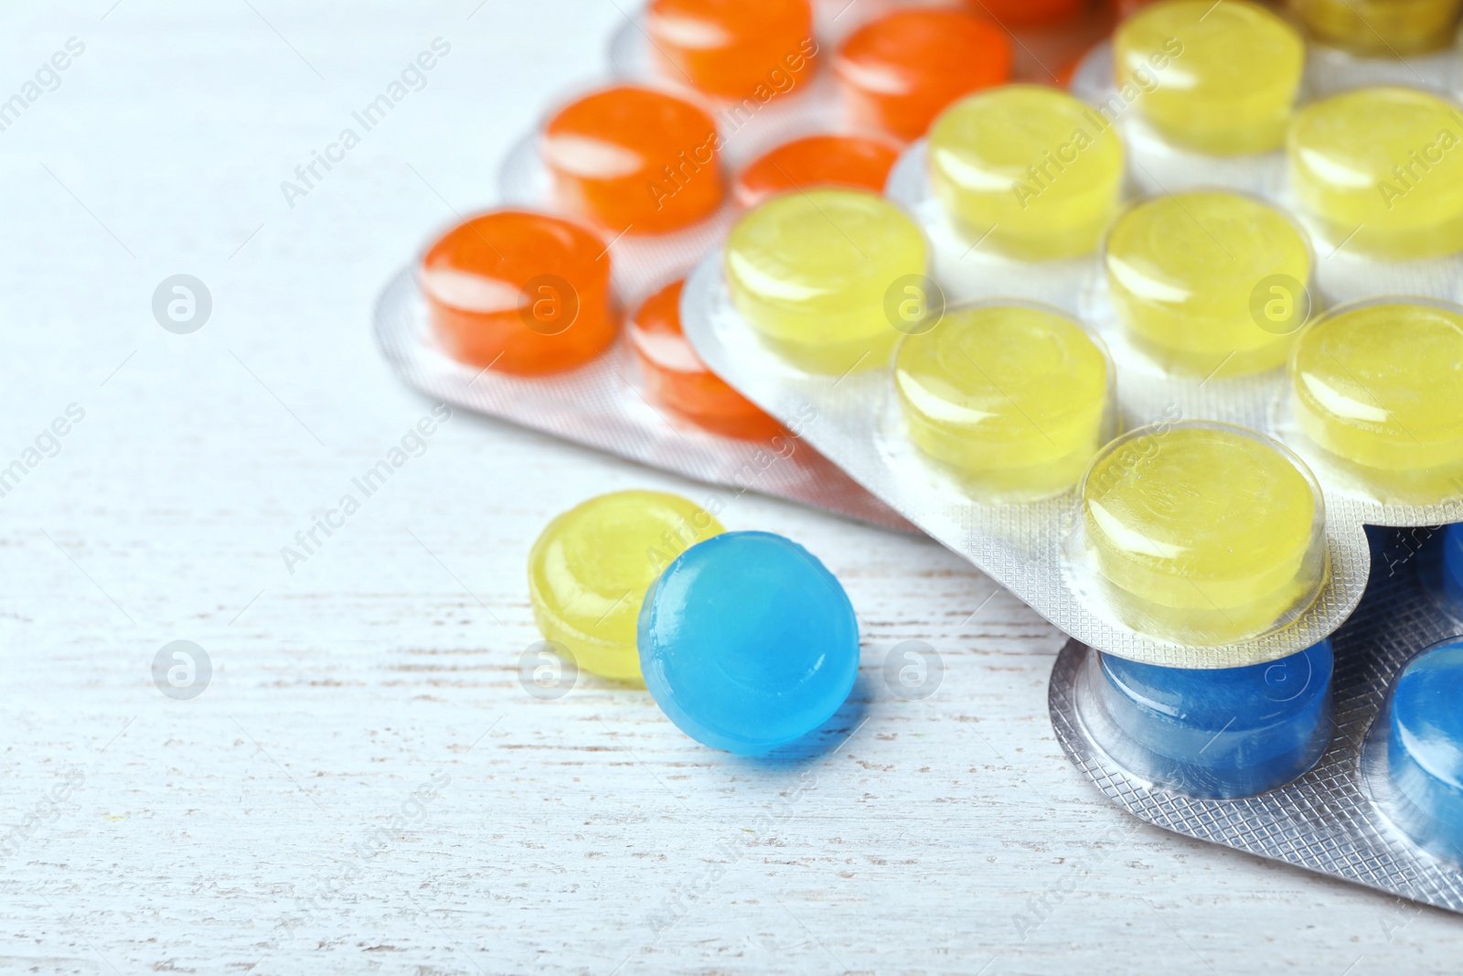
[[[508,154],[502,209],[446,230],[388,285],[388,359],[470,410],[911,530],[797,421],[711,373],[677,297],[742,209],[790,189],[882,187],[945,104],[1012,64],[1071,61],[1109,23],[1078,16],[1083,0],[976,6],[983,16],[969,3],[654,0],[626,16],[609,76],[556,100]],[[1012,42],[992,16],[1036,32]]]

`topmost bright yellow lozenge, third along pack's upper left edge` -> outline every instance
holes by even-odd
[[[1280,148],[1305,67],[1289,23],[1244,0],[1167,0],[1113,38],[1121,85],[1170,142],[1211,155]],[[1165,67],[1157,67],[1165,64]]]

